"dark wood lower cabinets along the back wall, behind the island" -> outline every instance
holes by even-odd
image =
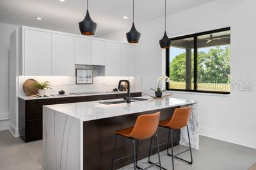
[[[19,98],[19,134],[25,142],[42,139],[43,105],[68,104],[123,98],[126,93],[111,95],[93,95],[84,97],[48,98],[22,100]],[[131,97],[141,97],[141,93],[131,93]]]

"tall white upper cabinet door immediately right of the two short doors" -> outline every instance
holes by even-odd
[[[106,76],[121,75],[121,45],[119,43],[106,43]]]

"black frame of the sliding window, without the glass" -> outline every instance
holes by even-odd
[[[215,93],[215,94],[224,94],[224,95],[229,95],[230,91],[205,91],[205,90],[198,90],[197,89],[197,82],[198,82],[198,47],[197,47],[197,37],[201,36],[201,35],[208,35],[208,34],[212,34],[212,33],[218,33],[218,32],[222,32],[222,31],[230,31],[230,27],[224,27],[221,29],[214,29],[211,31],[204,31],[201,33],[195,33],[195,34],[191,34],[191,35],[184,35],[184,36],[178,36],[175,38],[170,38],[171,42],[173,40],[180,40],[180,39],[184,39],[184,38],[194,38],[194,89],[172,89],[169,88],[169,83],[166,82],[165,84],[165,89],[166,90],[170,90],[170,91],[188,91],[188,92],[196,92],[196,93]],[[166,66],[165,66],[165,70],[166,70],[166,76],[170,77],[170,48],[166,49]]]

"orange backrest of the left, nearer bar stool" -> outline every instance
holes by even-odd
[[[156,133],[160,118],[160,112],[143,114],[138,116],[131,137],[134,139],[148,139]]]

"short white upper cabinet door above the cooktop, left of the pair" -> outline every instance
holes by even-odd
[[[91,40],[75,37],[75,64],[91,65]]]

